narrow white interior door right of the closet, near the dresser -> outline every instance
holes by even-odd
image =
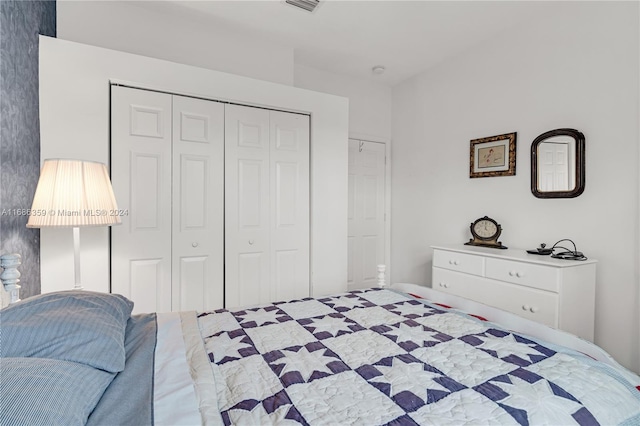
[[[385,263],[385,144],[349,139],[349,290],[376,286]]]

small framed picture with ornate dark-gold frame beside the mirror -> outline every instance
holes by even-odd
[[[515,174],[516,132],[471,141],[470,178]]]

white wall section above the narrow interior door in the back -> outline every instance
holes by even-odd
[[[294,70],[294,86],[349,98],[350,137],[391,140],[391,87],[300,64]]]

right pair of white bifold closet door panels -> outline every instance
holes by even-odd
[[[309,117],[226,105],[225,307],[309,290]]]

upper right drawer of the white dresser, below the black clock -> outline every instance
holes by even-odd
[[[558,293],[559,269],[544,265],[487,258],[485,276],[494,280]]]

